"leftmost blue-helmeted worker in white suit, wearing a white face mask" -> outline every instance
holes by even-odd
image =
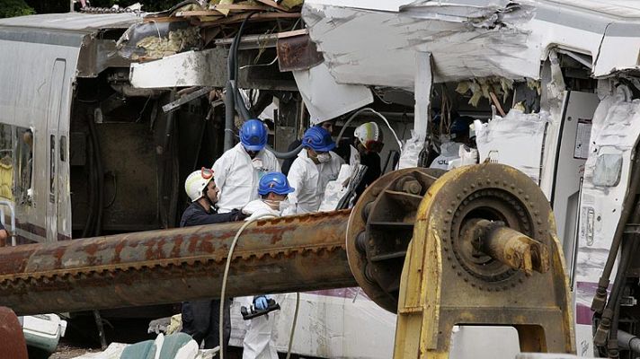
[[[220,188],[219,213],[243,208],[257,199],[260,178],[267,172],[280,171],[276,156],[264,149],[267,136],[267,127],[262,121],[250,119],[240,128],[240,143],[213,163]]]

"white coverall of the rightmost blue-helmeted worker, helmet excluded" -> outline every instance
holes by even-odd
[[[329,153],[331,161],[316,164],[308,157],[307,150],[303,149],[291,164],[287,180],[296,191],[289,194],[289,202],[296,214],[317,212],[324,198],[326,184],[338,178],[344,161],[339,155],[331,151]]]

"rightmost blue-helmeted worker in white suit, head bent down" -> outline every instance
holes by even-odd
[[[291,164],[289,183],[295,191],[289,195],[292,211],[297,214],[317,212],[324,188],[336,180],[344,160],[333,153],[335,143],[323,127],[311,127],[302,136],[303,150]],[[287,213],[289,215],[289,212]]]

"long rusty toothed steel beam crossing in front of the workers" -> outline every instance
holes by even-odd
[[[345,251],[350,211],[261,220],[241,235],[229,296],[355,286]],[[19,315],[219,297],[243,223],[0,249],[0,306]]]

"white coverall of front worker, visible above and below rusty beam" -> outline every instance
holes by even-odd
[[[259,215],[280,216],[279,210],[272,209],[261,199],[249,202],[248,205],[244,206],[243,212],[246,215],[251,215],[245,221],[251,221]],[[268,217],[265,216],[263,218],[266,219]],[[278,302],[278,299],[273,295],[271,295],[271,298]],[[237,300],[247,308],[253,304],[253,296],[241,297],[237,298]],[[248,320],[249,324],[243,341],[243,359],[278,359],[278,351],[272,338],[277,313],[278,311],[271,311],[267,315]]]

